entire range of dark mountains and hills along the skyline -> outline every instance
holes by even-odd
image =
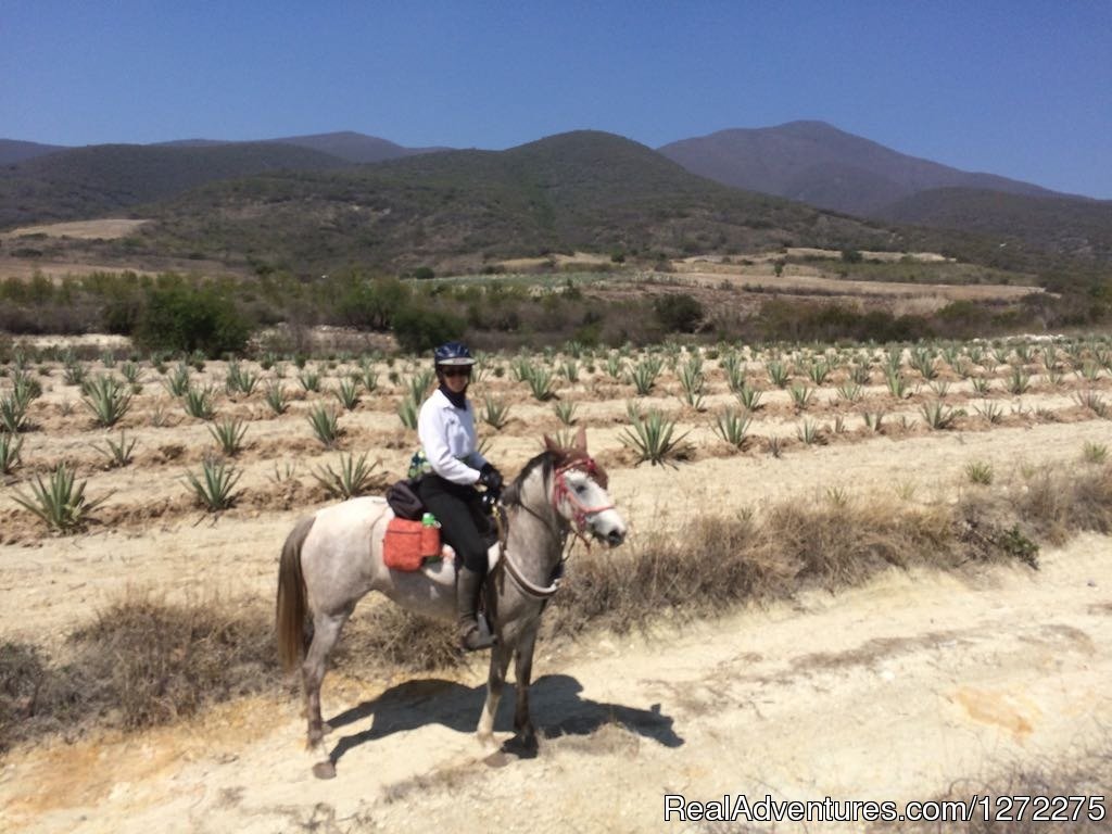
[[[911,224],[959,230],[961,240],[984,236],[977,249],[991,238],[1013,250],[1112,262],[1112,201],[960,171],[816,121],[724,130],[656,150],[597,131],[505,151],[405,148],[351,131],[85,148],[0,140],[0,229],[139,209],[159,218],[163,242],[188,246],[188,230],[203,221],[210,242],[219,238],[225,251],[241,255],[274,248],[292,257],[302,240],[298,262],[319,249],[309,246],[316,227],[297,220],[299,211],[329,239],[332,227],[360,230],[348,244],[334,240],[337,257],[368,247],[439,258],[454,247],[691,251],[757,238],[864,248],[892,224]],[[289,239],[271,246],[267,228]],[[379,239],[387,229],[395,237]]]

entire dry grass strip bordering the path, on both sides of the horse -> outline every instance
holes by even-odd
[[[548,638],[625,633],[800,590],[860,585],[892,567],[1037,567],[1036,540],[1112,530],[1112,467],[1044,471],[1025,488],[977,488],[957,503],[855,502],[831,490],[758,514],[703,516],[678,532],[580,556],[544,619]],[[461,663],[454,631],[391,604],[366,605],[340,643],[348,674]],[[0,644],[0,749],[92,724],[136,729],[280,685],[272,612],[261,600],[169,604],[130,594],[75,631],[63,656]]]

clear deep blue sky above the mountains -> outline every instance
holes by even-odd
[[[821,119],[1112,199],[1109,0],[3,0],[0,137],[658,147]]]

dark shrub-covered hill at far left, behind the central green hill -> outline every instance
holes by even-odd
[[[231,177],[346,165],[318,150],[274,142],[71,148],[0,168],[0,229],[103,217]]]

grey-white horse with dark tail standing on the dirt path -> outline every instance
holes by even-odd
[[[502,496],[505,530],[500,556],[484,579],[487,617],[497,639],[490,649],[486,702],[476,733],[494,744],[494,719],[506,671],[516,657],[514,741],[536,748],[529,714],[533,651],[540,615],[559,587],[569,534],[617,547],[626,525],[607,495],[607,476],[587,453],[579,429],[569,448],[545,436],[545,449],[529,460]],[[378,590],[403,608],[455,622],[456,569],[400,572],[383,563],[383,535],[393,512],[380,498],[353,498],[300,519],[286,538],[278,568],[276,626],[282,667],[300,663],[308,721],[308,748],[322,748],[329,727],[320,716],[320,684],[329,653],[356,603]],[[493,552],[495,548],[492,548]],[[311,620],[311,629],[307,623]],[[308,634],[311,633],[311,638]],[[330,761],[314,773],[335,775]]]

